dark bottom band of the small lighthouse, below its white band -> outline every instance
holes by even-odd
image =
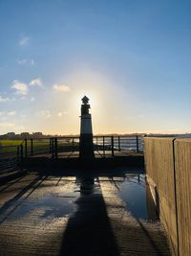
[[[93,134],[81,134],[79,139],[79,158],[94,158]]]

